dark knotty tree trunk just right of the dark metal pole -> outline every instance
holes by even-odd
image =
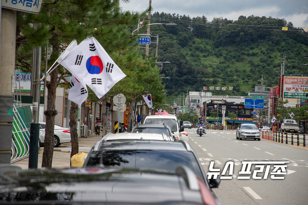
[[[52,155],[53,155],[53,137],[54,137],[54,116],[57,114],[55,110],[55,97],[56,97],[56,79],[57,69],[50,73],[50,83],[47,85],[47,110],[44,111],[46,116],[46,129],[44,140],[44,152],[42,159],[42,167],[51,168]]]

